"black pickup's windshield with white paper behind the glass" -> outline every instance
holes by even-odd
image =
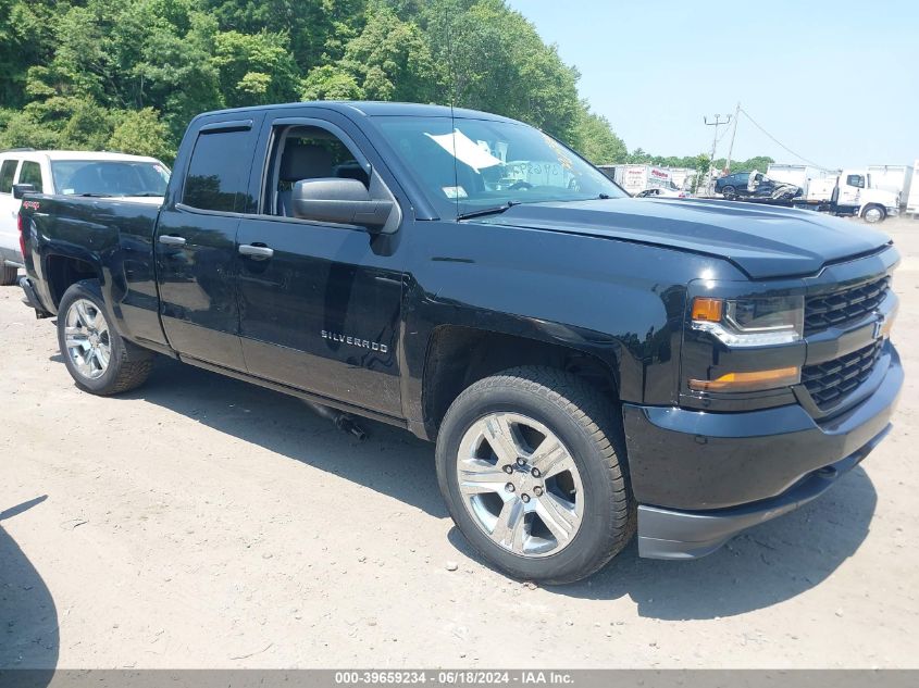
[[[408,116],[375,122],[447,217],[508,203],[626,196],[576,153],[524,124]]]

